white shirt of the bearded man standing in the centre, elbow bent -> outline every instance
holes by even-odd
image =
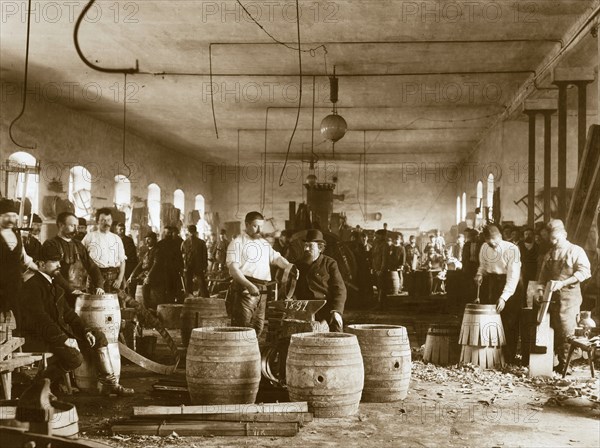
[[[252,239],[246,232],[236,236],[227,248],[227,267],[239,263],[245,277],[257,280],[271,280],[271,264],[283,259],[264,238]]]

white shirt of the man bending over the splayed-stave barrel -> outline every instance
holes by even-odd
[[[477,273],[506,274],[506,284],[500,298],[508,300],[516,291],[521,274],[521,254],[519,248],[509,241],[501,240],[496,248],[483,243],[479,250]]]

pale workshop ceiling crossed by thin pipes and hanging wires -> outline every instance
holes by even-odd
[[[75,50],[73,29],[85,2],[33,3],[29,85],[52,85],[65,106],[121,127],[124,75],[91,69]],[[293,0],[242,4],[278,40],[297,45]],[[302,49],[316,50],[302,53],[302,109],[290,157],[308,158],[313,92],[315,151],[332,155],[318,129],[331,110],[327,75],[335,65],[339,113],[350,129],[336,144],[336,160],[358,160],[366,150],[370,162],[401,163],[469,154],[598,1],[299,4]],[[298,52],[271,40],[235,1],[99,0],[88,17],[79,43],[92,63],[131,68],[137,60],[144,72],[127,77],[131,132],[199,160],[261,160],[265,147],[269,160],[285,156],[297,114]],[[4,14],[0,37],[0,77],[21,82],[24,10]],[[596,41],[584,40],[571,60],[597,61]],[[26,120],[19,127],[26,129]]]

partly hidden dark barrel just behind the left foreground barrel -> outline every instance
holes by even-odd
[[[181,309],[181,342],[187,346],[194,328],[227,327],[231,319],[225,310],[225,300],[188,297]]]

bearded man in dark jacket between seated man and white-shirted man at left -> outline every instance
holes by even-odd
[[[98,265],[90,258],[85,246],[74,238],[77,234],[77,222],[73,213],[60,213],[56,217],[58,235],[44,241],[42,245],[42,249],[47,245],[54,246],[61,254],[60,275],[56,276],[56,282],[66,292],[67,303],[72,307],[75,306],[77,295],[86,289],[88,276],[91,292],[104,294],[104,278]]]

